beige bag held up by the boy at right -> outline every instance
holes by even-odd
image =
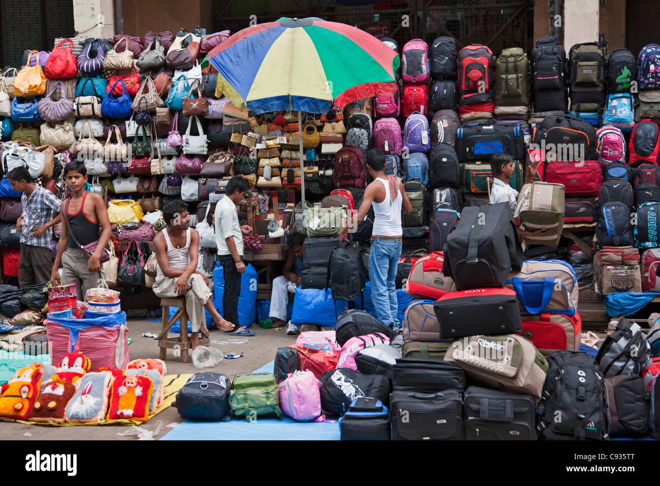
[[[528,244],[556,247],[564,229],[564,210],[566,200],[563,185],[533,182],[524,185],[520,191],[513,218],[520,229],[548,229],[545,235],[523,237]]]

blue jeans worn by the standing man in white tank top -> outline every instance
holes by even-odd
[[[369,280],[376,317],[385,326],[394,323],[398,327],[399,304],[397,303],[397,267],[401,258],[401,241],[374,237],[369,253]]]

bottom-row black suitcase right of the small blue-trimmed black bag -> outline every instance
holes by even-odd
[[[420,393],[395,390],[389,396],[393,440],[461,440],[461,393]]]

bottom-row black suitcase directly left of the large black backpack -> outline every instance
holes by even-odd
[[[470,386],[463,397],[465,439],[536,440],[534,397]]]

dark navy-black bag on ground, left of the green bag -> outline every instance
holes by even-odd
[[[176,410],[186,419],[220,420],[229,411],[230,388],[222,373],[195,373],[176,394]]]

